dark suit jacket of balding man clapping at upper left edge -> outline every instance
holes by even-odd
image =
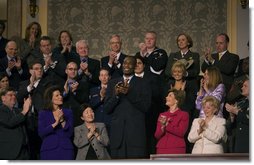
[[[3,59],[0,60],[0,72],[5,72],[7,74],[7,72],[6,72],[7,67],[8,67],[8,58],[6,56],[6,57],[4,57]],[[11,76],[8,76],[10,86],[15,88],[15,90],[18,90],[19,83],[21,81],[24,81],[24,80],[28,79],[29,76],[30,76],[29,71],[28,71],[28,66],[27,66],[26,62],[23,62],[21,60],[21,67],[23,69],[22,74],[19,74],[17,68],[14,67],[11,70],[11,73],[12,73]]]

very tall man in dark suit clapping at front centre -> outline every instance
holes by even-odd
[[[110,150],[114,159],[145,158],[145,113],[151,104],[151,90],[134,75],[136,59],[123,62],[123,77],[112,79],[107,87],[104,110],[111,114]]]

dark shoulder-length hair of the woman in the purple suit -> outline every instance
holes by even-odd
[[[53,110],[52,97],[55,91],[62,91],[59,86],[51,86],[48,87],[44,92],[44,109],[45,110]]]

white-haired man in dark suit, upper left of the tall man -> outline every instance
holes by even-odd
[[[90,88],[98,86],[100,84],[100,61],[88,57],[88,42],[86,40],[79,40],[76,42],[76,51],[79,57],[75,58],[74,61],[78,65],[79,77],[89,82]]]

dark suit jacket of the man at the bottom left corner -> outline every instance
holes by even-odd
[[[0,159],[16,159],[22,145],[27,144],[25,116],[18,109],[13,110],[16,115],[7,106],[0,106]]]

